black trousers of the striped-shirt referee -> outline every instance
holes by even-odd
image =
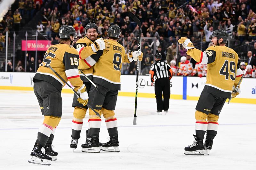
[[[167,111],[170,100],[170,80],[169,78],[158,78],[155,82],[156,106],[157,110]],[[164,94],[164,100],[163,100]]]

